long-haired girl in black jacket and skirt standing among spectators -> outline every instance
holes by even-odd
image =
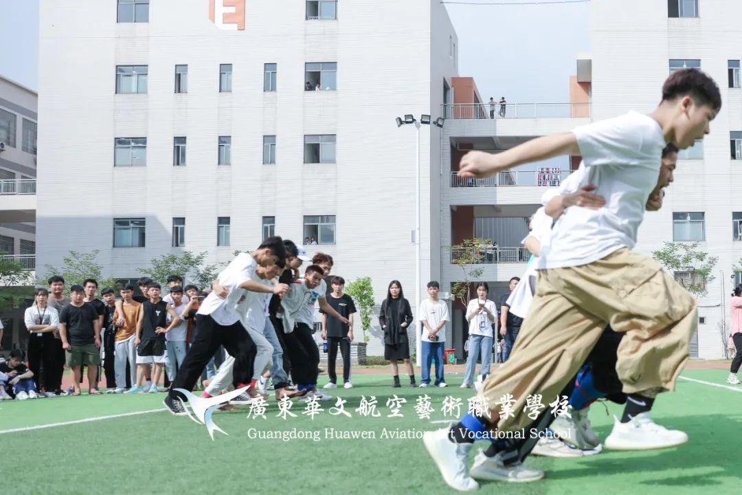
[[[402,284],[399,281],[392,281],[389,284],[387,298],[381,303],[378,321],[381,324],[381,330],[384,330],[384,359],[389,359],[392,364],[394,376],[392,386],[401,387],[397,361],[404,359],[407,373],[410,375],[410,387],[417,387],[415,371],[410,361],[410,341],[407,338],[407,328],[414,321],[413,311],[410,308],[410,302],[404,298]]]

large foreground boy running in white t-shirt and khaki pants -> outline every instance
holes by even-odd
[[[649,115],[629,112],[572,132],[539,137],[498,154],[472,151],[462,158],[459,177],[484,178],[559,156],[581,156],[587,183],[605,206],[570,206],[551,231],[551,244],[539,260],[539,280],[530,314],[516,341],[513,358],[490,375],[480,395],[490,411],[468,414],[455,426],[424,435],[444,480],[453,488],[478,488],[475,477],[531,481],[544,473],[520,463],[504,466],[497,446],[487,449],[467,471],[475,435],[518,431],[531,422],[527,400],[534,393],[554,397],[582,366],[610,321],[626,332],[616,370],[623,392],[646,400],[634,407],[628,425],[634,442],[666,435],[646,409],[658,392],[673,390],[689,359],[689,339],[697,330],[695,299],[659,263],[631,251],[645,206],[660,176],[663,148],[680,149],[709,134],[721,108],[718,85],[702,71],[670,74],[660,105]],[[499,413],[499,399],[513,394],[513,415]],[[494,422],[492,421],[494,419]],[[677,444],[676,444],[677,445]],[[654,447],[652,447],[654,448]]]

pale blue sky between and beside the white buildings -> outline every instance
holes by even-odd
[[[483,98],[568,101],[577,53],[590,47],[589,2],[446,8],[459,33],[459,73],[476,79]],[[0,74],[36,89],[39,0],[2,0],[0,46],[10,48],[0,57]]]

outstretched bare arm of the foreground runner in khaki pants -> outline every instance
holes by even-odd
[[[539,162],[562,155],[579,155],[577,136],[567,132],[552,136],[537,137],[508,151],[491,154],[485,151],[470,151],[459,164],[459,177],[484,178],[498,172],[522,165]]]

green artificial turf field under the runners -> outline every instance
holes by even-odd
[[[724,370],[686,370],[683,376],[723,384]],[[392,432],[424,431],[444,420],[445,396],[466,399],[473,390],[458,387],[461,375],[448,375],[447,388],[390,387],[386,375],[357,375],[351,390],[332,390],[347,399],[352,414],[331,416],[335,402],[321,403],[315,419],[276,417],[269,399],[267,419],[247,419],[247,408],[217,413],[214,421],[229,436],[214,434],[188,417],[164,410],[93,422],[62,424],[99,416],[158,410],[164,394],[80,396],[0,402],[0,451],[5,468],[3,493],[13,494],[450,494],[420,439],[382,438]],[[320,377],[324,384],[326,377]],[[404,379],[403,379],[404,383]],[[733,388],[733,387],[732,387]],[[404,418],[387,418],[387,399],[407,399]],[[436,410],[419,419],[414,406],[427,393]],[[375,396],[381,417],[360,417],[361,396]],[[611,413],[622,410],[608,403]],[[547,478],[526,484],[483,482],[479,493],[494,494],[715,494],[742,493],[738,459],[742,445],[742,387],[738,390],[679,380],[675,393],[662,394],[654,419],[689,433],[680,448],[643,452],[604,450],[597,456],[550,459],[531,456],[528,464],[547,471]],[[605,438],[612,417],[602,404],[591,409],[591,422]],[[375,439],[328,439],[326,428],[373,432]],[[251,430],[254,429],[254,430]],[[314,439],[250,439],[255,431],[318,430]],[[370,433],[366,433],[367,435]],[[478,444],[485,447],[485,443]],[[473,458],[473,456],[472,456]],[[11,488],[12,487],[12,488]],[[10,491],[5,491],[9,488]]]

